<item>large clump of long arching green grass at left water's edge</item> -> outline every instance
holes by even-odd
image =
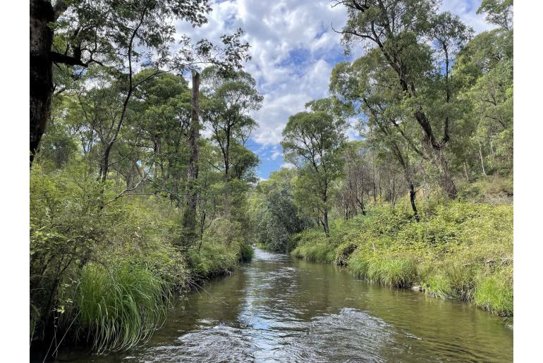
[[[171,286],[144,264],[88,263],[78,286],[78,321],[97,352],[122,350],[161,326]]]

